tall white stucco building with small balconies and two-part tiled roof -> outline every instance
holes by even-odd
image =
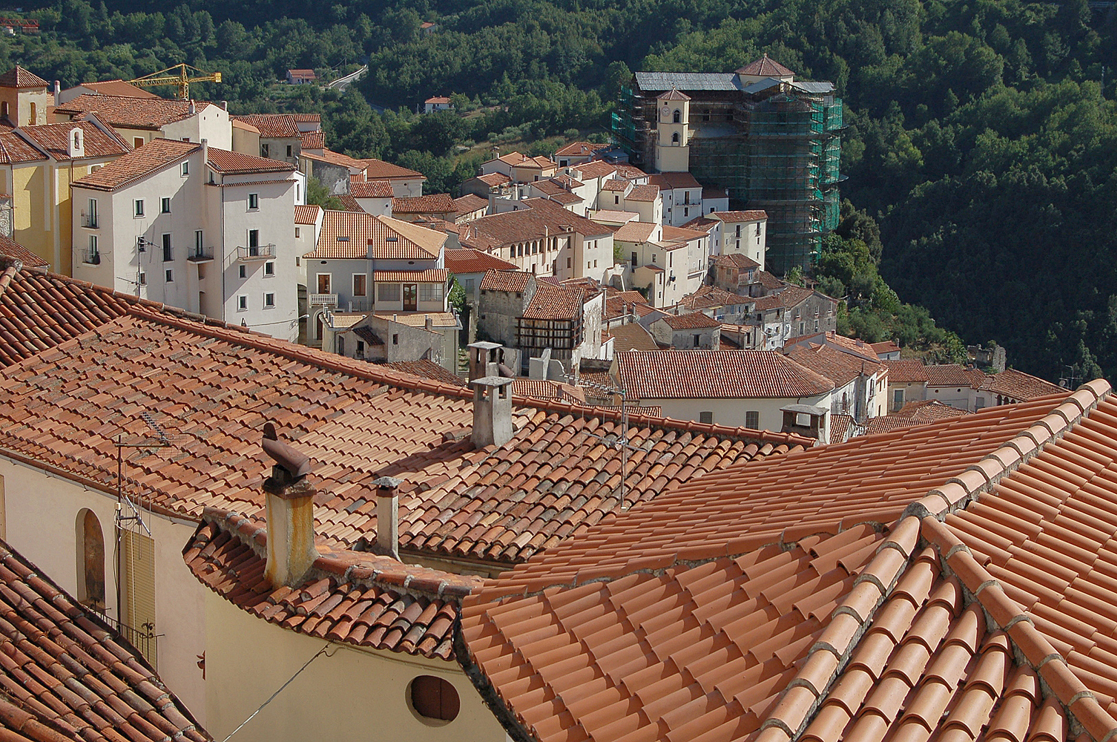
[[[294,165],[154,139],[70,187],[75,278],[297,339]]]

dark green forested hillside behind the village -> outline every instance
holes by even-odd
[[[442,190],[472,173],[459,152],[475,143],[603,126],[630,70],[725,71],[766,51],[847,102],[852,203],[817,271],[850,297],[847,322],[956,354],[903,300],[967,343],[1006,346],[1024,370],[1113,377],[1117,10],[1094,4],[63,0],[26,7],[45,30],[0,39],[0,65],[66,86],[178,61],[221,70],[226,83],[197,95],[242,112],[322,110],[335,148],[423,170]],[[365,60],[345,95],[275,85],[288,67],[330,76]],[[456,94],[467,115],[373,108],[436,94]]]

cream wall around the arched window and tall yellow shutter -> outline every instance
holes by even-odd
[[[71,595],[77,594],[77,515],[92,510],[105,539],[105,604],[116,618],[113,581],[116,499],[76,482],[0,457],[8,542]],[[197,523],[144,514],[155,540],[155,630],[159,674],[206,725],[206,692],[197,655],[206,651],[203,594],[208,589],[182,560]]]

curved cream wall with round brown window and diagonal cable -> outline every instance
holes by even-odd
[[[207,730],[221,740],[327,643],[256,618],[219,596],[206,597]],[[454,662],[333,644],[237,733],[238,742],[421,740],[504,742],[505,731]],[[461,711],[423,722],[407,691],[419,675],[445,678]]]

